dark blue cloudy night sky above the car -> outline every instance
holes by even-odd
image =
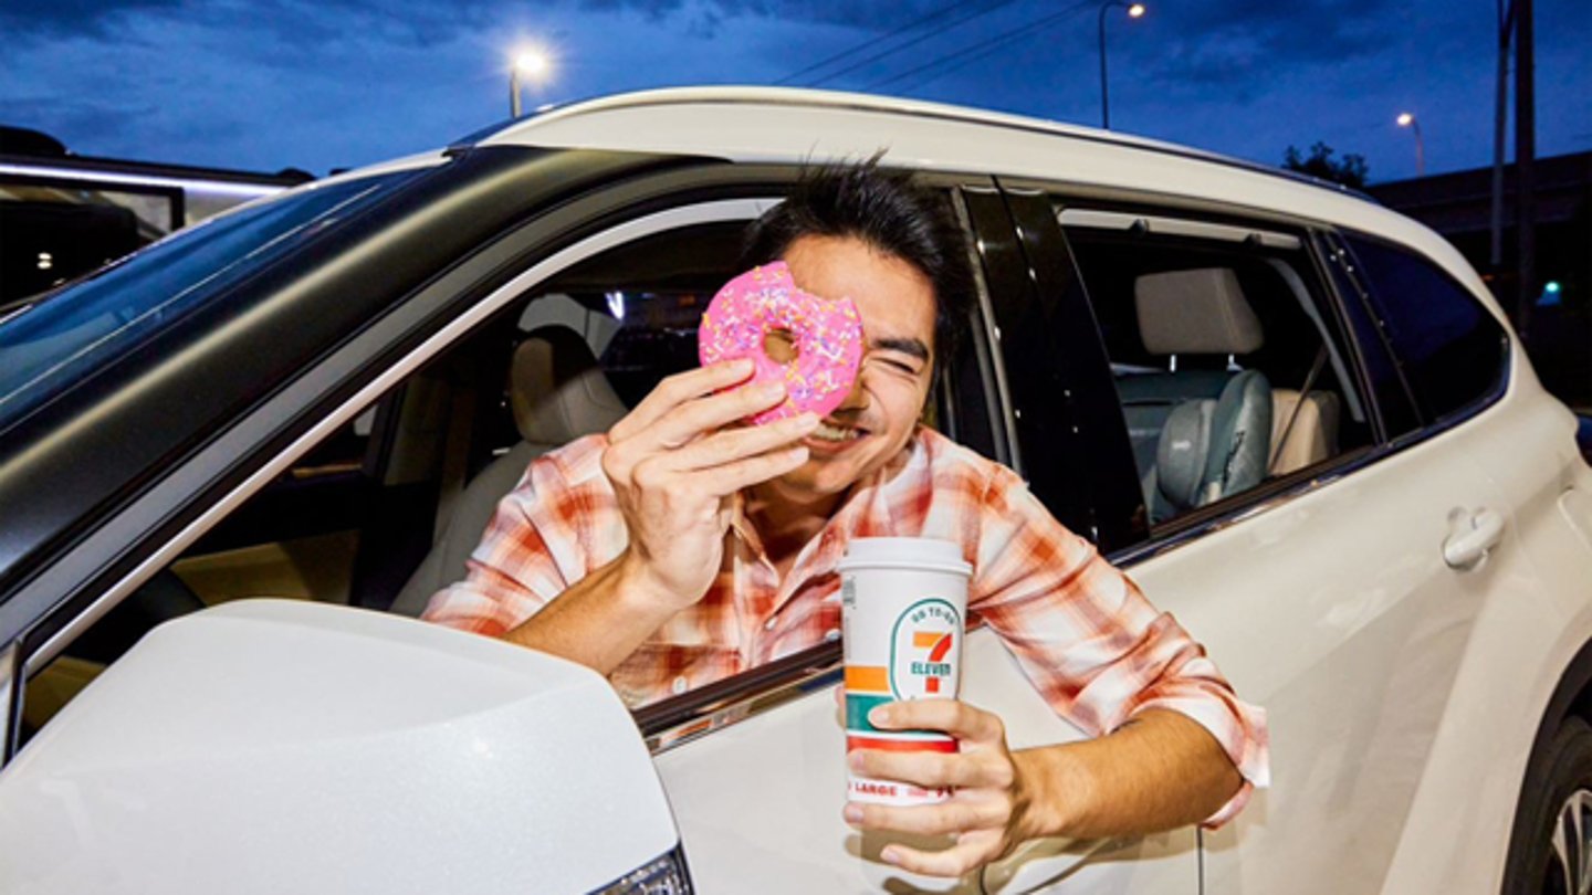
[[[1372,182],[1492,161],[1493,0],[1148,0],[1106,14],[1118,131],[1278,164],[1360,153]],[[790,83],[1098,126],[1098,2],[0,2],[0,123],[80,154],[325,174],[508,115],[509,51],[556,56],[527,108]],[[938,14],[927,25],[901,32]],[[1538,156],[1592,150],[1592,0],[1536,3]],[[884,51],[904,46],[899,53]],[[879,56],[877,59],[871,59]],[[850,68],[850,70],[844,70]]]

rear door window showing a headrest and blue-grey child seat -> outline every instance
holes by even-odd
[[[1371,444],[1302,234],[1060,205],[1149,524]]]

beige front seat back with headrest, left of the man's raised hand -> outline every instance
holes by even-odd
[[[465,576],[465,561],[481,543],[498,502],[519,484],[532,460],[584,435],[607,432],[626,414],[586,339],[567,326],[537,330],[514,350],[509,408],[524,441],[470,479],[392,612],[419,616],[431,594]]]

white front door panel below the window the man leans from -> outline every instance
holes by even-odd
[[[989,629],[968,635],[962,661],[962,698],[998,713],[1013,747],[1083,737],[1028,685]],[[882,863],[877,855],[887,839],[858,833],[841,819],[845,731],[834,686],[672,747],[656,764],[702,892],[981,892],[977,876],[946,881]],[[946,844],[922,841],[923,847]],[[1055,885],[1062,892],[1196,895],[1197,862],[1188,828],[1114,847],[1040,841],[990,866],[982,890]],[[1095,882],[1084,889],[1083,877]]]

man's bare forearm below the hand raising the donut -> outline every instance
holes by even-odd
[[[621,554],[503,634],[505,640],[610,674],[653,635],[673,610],[648,592]]]

